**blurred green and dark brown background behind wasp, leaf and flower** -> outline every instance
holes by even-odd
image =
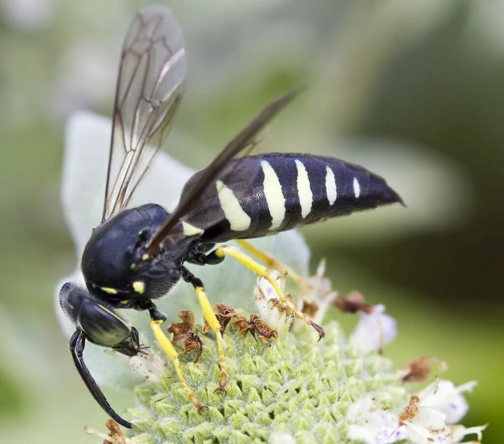
[[[2,442],[96,442],[82,427],[103,429],[54,315],[55,282],[76,261],[60,168],[72,111],[110,115],[121,40],[142,4],[0,2]],[[169,6],[190,63],[170,153],[202,168],[265,103],[308,85],[260,149],[363,164],[408,205],[303,229],[312,266],[325,256],[335,288],[386,304],[397,366],[436,356],[450,366],[443,378],[478,380],[463,422],[489,422],[485,441],[502,442],[504,4]]]

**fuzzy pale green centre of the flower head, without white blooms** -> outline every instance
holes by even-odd
[[[389,359],[351,346],[336,323],[326,331],[319,343],[304,326],[282,328],[277,339],[263,342],[228,329],[225,396],[214,393],[215,342],[202,335],[201,359],[186,360],[183,372],[208,410],[199,414],[187,402],[168,369],[135,389],[141,406],[128,410],[132,442],[346,442],[348,409],[364,394],[376,391],[383,408],[407,404]]]

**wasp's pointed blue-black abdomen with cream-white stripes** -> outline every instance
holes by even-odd
[[[219,222],[207,227],[203,235],[216,241],[262,237],[323,218],[401,202],[380,176],[329,157],[249,156],[231,162],[222,177],[211,190],[215,204],[207,205],[207,211]],[[196,227],[197,219],[191,221]]]

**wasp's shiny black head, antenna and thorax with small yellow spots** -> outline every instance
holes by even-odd
[[[192,274],[185,261],[217,263],[222,259],[205,255],[213,244],[185,240],[154,257],[147,253],[146,242],[152,238],[169,214],[157,204],[126,209],[93,230],[82,256],[81,268],[87,289],[67,282],[59,292],[62,310],[77,327],[70,339],[74,363],[88,390],[102,408],[119,424],[132,428],[111,408],[83,359],[85,341],[110,347],[127,356],[141,352],[138,331],[114,309],[148,310],[151,319],[166,320],[152,299],[166,294],[183,276]]]

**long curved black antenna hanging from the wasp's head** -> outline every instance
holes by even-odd
[[[86,343],[86,335],[80,331],[76,330],[76,332],[70,338],[70,351],[72,353],[72,357],[74,358],[75,366],[81,375],[82,380],[86,384],[86,387],[90,391],[93,398],[100,404],[101,408],[107,412],[107,414],[117,423],[122,425],[123,427],[133,428],[133,424],[122,419],[117,413],[115,413],[114,409],[110,407],[110,404],[105,398],[105,395],[96,384],[96,381],[92,377],[91,373],[86,367],[84,363],[83,351],[84,345]]]

